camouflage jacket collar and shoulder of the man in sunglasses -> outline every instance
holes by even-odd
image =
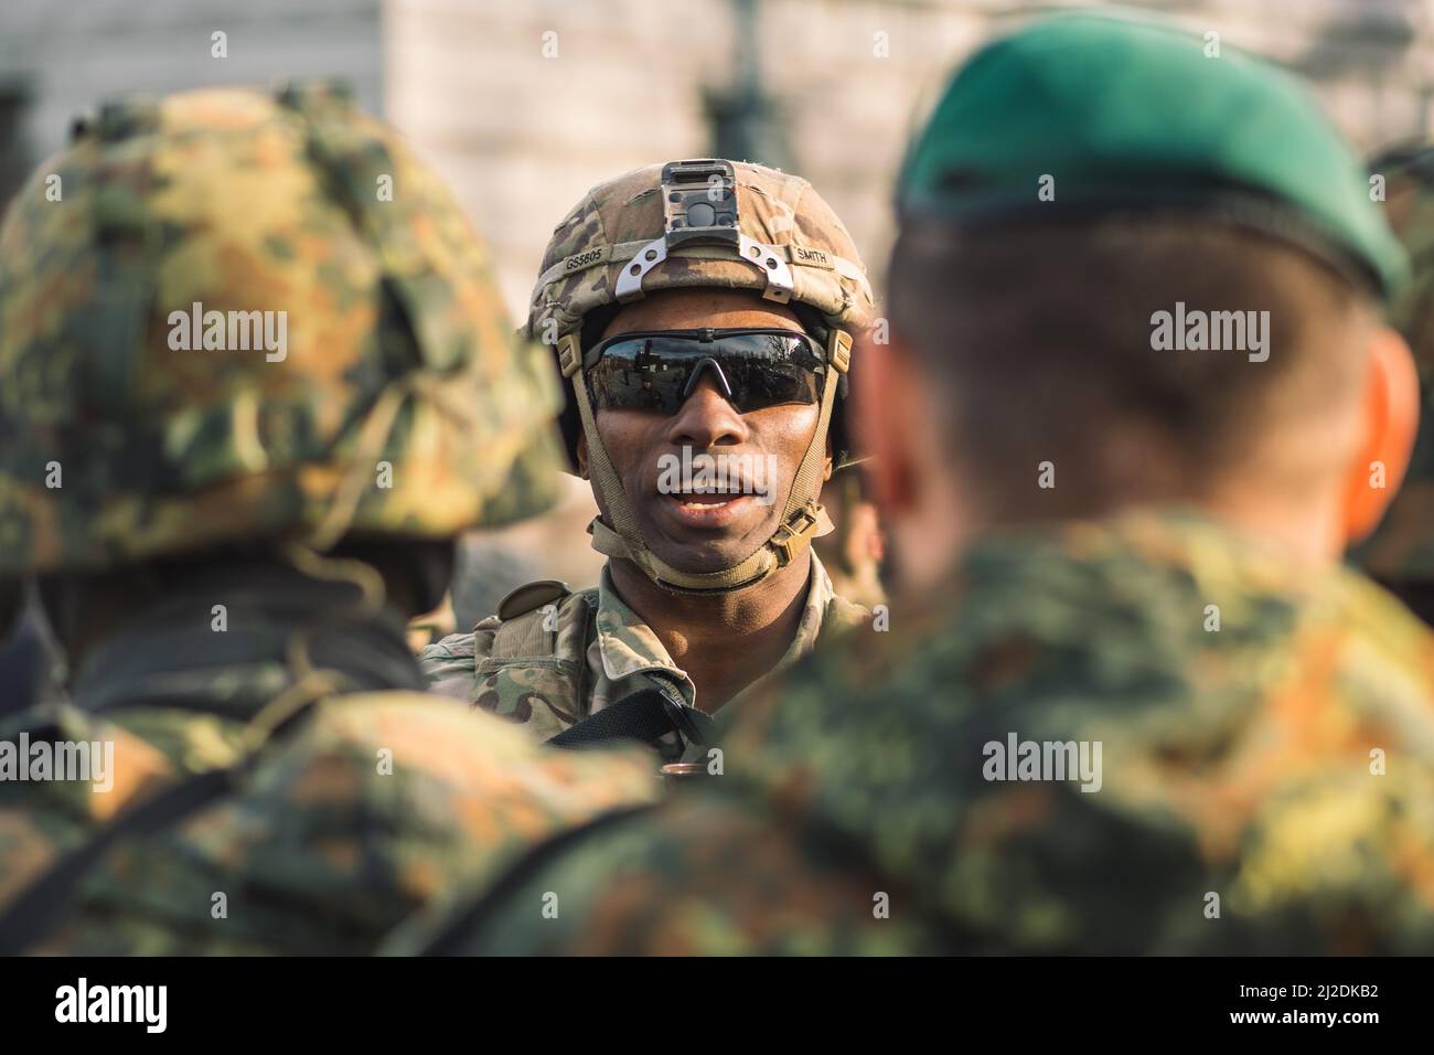
[[[836,596],[826,568],[813,553],[796,637],[773,670],[782,670],[812,652],[823,634],[866,626],[870,619],[866,609]],[[618,596],[608,566],[602,567],[598,586],[561,599],[549,620],[555,634],[554,650],[551,659],[539,662],[492,657],[503,624],[498,616],[485,619],[470,633],[449,634],[430,644],[419,656],[429,689],[516,722],[538,741],[556,736],[634,692],[638,686],[631,679],[647,672],[668,675],[688,706],[697,706],[697,688],[691,677],[673,662],[652,629]],[[754,682],[723,711],[740,708],[746,693],[760,683]],[[667,748],[664,761],[683,759],[675,739]]]

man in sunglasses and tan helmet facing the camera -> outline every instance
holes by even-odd
[[[595,589],[522,587],[424,650],[433,688],[562,745],[706,756],[706,715],[868,617],[810,541],[870,316],[856,247],[804,179],[697,159],[594,188],[554,231],[526,332],[566,382],[609,560]]]

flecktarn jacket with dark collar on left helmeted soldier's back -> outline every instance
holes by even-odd
[[[549,752],[416,690],[422,673],[396,624],[328,637],[315,656],[344,689],[320,692],[251,748],[255,718],[293,685],[271,647],[287,627],[231,606],[229,633],[209,634],[208,601],[194,606],[188,637],[143,620],[118,637],[86,665],[96,676],[76,688],[83,706],[0,722],[0,751],[113,744],[103,781],[0,779],[0,913],[39,887],[53,917],[24,939],[14,919],[0,923],[7,949],[366,953],[453,884],[482,884],[533,841],[660,789],[645,752]],[[204,634],[237,639],[239,659],[189,662]],[[357,663],[346,669],[344,655]],[[155,693],[103,699],[122,680]],[[199,690],[181,706],[184,685]],[[222,785],[206,784],[217,774]],[[132,822],[166,795],[175,817]],[[122,834],[72,888],[56,883],[110,833]]]

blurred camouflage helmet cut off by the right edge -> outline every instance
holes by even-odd
[[[1410,471],[1384,521],[1357,551],[1384,580],[1434,583],[1434,148],[1375,164],[1385,215],[1410,254],[1412,280],[1390,309],[1420,370],[1421,421]]]

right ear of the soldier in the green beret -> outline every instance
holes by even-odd
[[[1344,530],[1358,543],[1378,525],[1404,482],[1420,425],[1420,376],[1395,330],[1381,326],[1364,383],[1364,442],[1345,481]]]

